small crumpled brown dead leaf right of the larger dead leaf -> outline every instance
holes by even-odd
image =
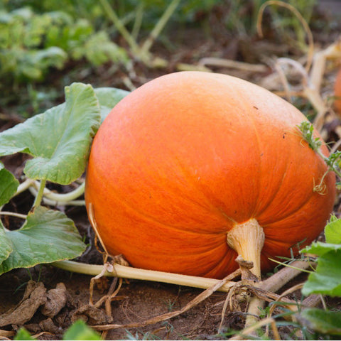
[[[45,305],[41,308],[41,313],[54,318],[67,302],[67,290],[64,283],[58,283],[55,289],[50,289],[47,294]]]

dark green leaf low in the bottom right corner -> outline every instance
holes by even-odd
[[[301,323],[321,334],[341,335],[341,312],[309,308],[299,315]]]

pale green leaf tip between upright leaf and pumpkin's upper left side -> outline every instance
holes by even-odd
[[[101,119],[103,121],[112,111],[112,108],[130,92],[115,87],[97,87],[97,89],[94,89],[94,93],[101,106]]]

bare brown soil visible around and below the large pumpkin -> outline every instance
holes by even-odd
[[[166,69],[153,69],[141,63],[134,62],[134,72],[129,72],[129,70],[124,69],[112,69],[112,65],[104,65],[103,67],[93,69],[86,65],[79,66],[71,63],[67,70],[63,71],[63,74],[60,71],[54,71],[52,73],[48,87],[51,87],[51,84],[54,87],[58,87],[60,89],[60,97],[56,99],[56,102],[63,102],[62,90],[63,86],[67,85],[64,82],[70,84],[72,81],[77,80],[80,82],[89,82],[94,87],[110,86],[131,90],[129,87],[138,87],[158,75],[177,70],[176,65],[178,63],[195,65],[200,58],[215,56],[224,59],[239,60],[245,63],[263,63],[264,58],[274,58],[276,55],[286,55],[292,58],[298,58],[300,55],[303,55],[293,45],[284,41],[278,43],[274,39],[274,36],[271,36],[270,32],[268,32],[268,37],[262,40],[242,35],[232,36],[230,33],[227,33],[219,21],[220,13],[224,10],[222,6],[221,8],[217,8],[215,13],[211,13],[210,24],[212,29],[209,33],[202,30],[200,26],[196,28],[184,28],[186,34],[183,34],[183,31],[180,33],[174,30],[170,38],[170,40],[175,42],[172,43],[171,53],[169,46],[166,48],[161,43],[157,43],[154,46],[152,52],[168,60],[168,67]],[[339,10],[341,12],[341,9]],[[318,13],[320,20],[330,21],[330,18],[325,16],[324,13]],[[340,31],[340,27],[332,28],[326,33],[314,31],[315,41],[321,47],[325,47],[337,39]],[[80,72],[81,67],[82,72]],[[261,83],[264,77],[269,76],[271,73],[270,67],[264,72],[218,66],[211,67],[211,70],[236,75],[256,83]],[[66,74],[68,75],[67,80],[64,77]],[[328,75],[332,79],[332,72]],[[126,82],[126,77],[129,77],[131,83]],[[330,84],[325,84],[326,91],[328,89],[330,90]],[[47,86],[47,83],[39,86]],[[302,107],[306,107],[306,103],[303,103]],[[1,131],[8,129],[10,126],[22,120],[22,117],[13,114],[16,112],[16,109],[18,107],[14,104],[6,108],[1,108]],[[337,126],[335,122],[334,125],[329,123],[327,126],[327,141],[333,141],[335,139],[335,126]],[[26,156],[16,155],[1,158],[1,161],[4,162],[9,171],[15,174],[17,178],[20,178],[26,159]],[[54,189],[67,191],[69,188],[64,186],[63,188]],[[25,192],[11,200],[5,208],[6,210],[26,214],[30,210],[32,203],[33,197]],[[338,211],[337,205],[335,212],[338,214]],[[94,233],[87,220],[85,208],[70,207],[65,210],[65,213],[75,221],[77,228],[80,230],[80,234],[85,236],[86,242],[90,244],[89,249],[80,257],[80,261],[101,264],[102,256],[94,248]],[[21,220],[16,218],[1,219],[6,227],[10,227],[11,229],[16,229],[21,226]],[[296,283],[301,283],[305,278],[306,276],[302,274],[299,278],[288,283],[282,290],[291,288]],[[108,315],[109,310],[105,309],[104,304],[97,308],[89,304],[90,280],[90,276],[71,274],[50,265],[35,266],[33,269],[28,270],[16,269],[0,276],[0,316],[9,313],[9,311],[16,308],[18,303],[22,302],[21,300],[25,292],[27,293],[26,290],[28,287],[37,288],[37,283],[42,283],[43,288],[39,288],[43,294],[39,297],[41,298],[43,296],[44,298],[42,300],[44,301],[47,291],[56,288],[58,283],[64,283],[65,285],[65,290],[60,289],[58,293],[57,301],[63,302],[58,313],[52,315],[52,317],[49,317],[46,313],[44,315],[42,307],[45,303],[41,303],[41,305],[31,311],[32,316],[23,322],[17,319],[22,310],[17,310],[19,313],[14,314],[16,317],[13,317],[11,323],[0,328],[0,340],[6,339],[6,337],[12,339],[16,330],[21,326],[24,326],[33,335],[38,335],[39,340],[60,340],[63,338],[65,330],[77,318],[86,320],[88,325],[106,325],[108,323],[129,325],[131,323],[140,323],[140,326],[136,328],[126,326],[124,328],[109,330],[109,332],[103,335],[107,340],[226,340],[229,338],[229,335],[225,334],[225,332],[229,330],[240,330],[244,324],[245,307],[242,306],[239,310],[234,311],[227,308],[224,314],[222,328],[218,331],[227,294],[215,292],[205,301],[193,306],[193,308],[185,313],[163,322],[144,325],[144,322],[150,318],[180,310],[193,300],[193,298],[202,293],[202,290],[148,281],[123,280],[120,283],[117,278],[100,281],[99,285],[93,291],[93,302],[96,303],[106,295],[110,286],[117,288],[121,285],[117,296],[112,301],[111,314]],[[36,289],[33,291],[37,292],[38,295]],[[292,293],[289,297],[293,298],[295,295],[298,297],[299,291]],[[33,300],[29,302],[32,307]],[[333,301],[333,304],[338,306],[340,302]],[[283,327],[280,332],[283,338],[293,338],[292,328]]]

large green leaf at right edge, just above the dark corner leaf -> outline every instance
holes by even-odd
[[[318,259],[316,271],[309,275],[302,293],[322,293],[328,296],[341,296],[341,249],[329,251]]]

